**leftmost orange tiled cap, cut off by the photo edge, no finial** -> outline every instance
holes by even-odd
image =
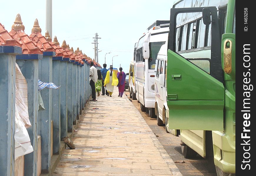
[[[4,29],[4,26],[0,23],[0,45],[7,46],[19,46],[21,47],[22,43],[15,40],[9,33]]]

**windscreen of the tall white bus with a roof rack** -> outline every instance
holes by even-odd
[[[162,47],[162,45],[164,45],[165,42],[150,42],[149,43],[149,59],[148,59],[148,69],[155,69],[155,63],[156,63],[156,59],[157,59],[157,54],[160,50],[160,48]]]

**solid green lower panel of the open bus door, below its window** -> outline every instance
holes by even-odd
[[[223,131],[224,86],[168,50],[169,129]]]

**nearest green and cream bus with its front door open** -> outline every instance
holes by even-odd
[[[186,158],[198,153],[210,171],[234,176],[235,0],[177,1],[169,28],[169,129],[180,130]]]

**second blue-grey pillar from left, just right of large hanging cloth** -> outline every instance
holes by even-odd
[[[34,152],[24,156],[24,175],[37,175],[37,133],[38,133],[38,62],[42,54],[16,56],[16,63],[26,78],[28,87],[28,112],[31,127],[27,128]]]

